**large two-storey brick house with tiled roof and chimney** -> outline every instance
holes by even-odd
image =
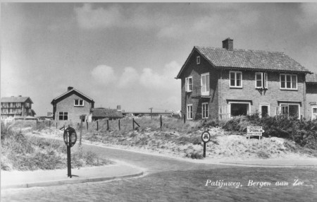
[[[306,117],[306,74],[282,52],[194,47],[181,79],[182,113],[187,119],[228,119],[253,114]]]

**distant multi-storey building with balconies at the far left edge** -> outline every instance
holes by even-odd
[[[14,117],[34,117],[35,111],[32,109],[30,97],[1,97],[1,119]]]

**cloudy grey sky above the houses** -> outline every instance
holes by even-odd
[[[73,86],[95,107],[180,110],[194,46],[285,52],[317,73],[317,3],[1,3],[1,97],[37,116]]]

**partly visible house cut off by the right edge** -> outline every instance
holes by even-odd
[[[317,119],[317,73],[306,75],[306,118]]]

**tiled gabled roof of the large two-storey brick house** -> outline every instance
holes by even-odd
[[[199,52],[213,67],[218,69],[236,68],[310,73],[308,69],[283,52],[266,52],[249,49],[233,49],[233,51],[230,52],[225,48],[197,46],[192,49],[192,53],[195,51]],[[192,53],[187,58],[187,61],[189,61]],[[187,61],[182,66],[177,78],[180,78],[180,74],[185,68]]]

